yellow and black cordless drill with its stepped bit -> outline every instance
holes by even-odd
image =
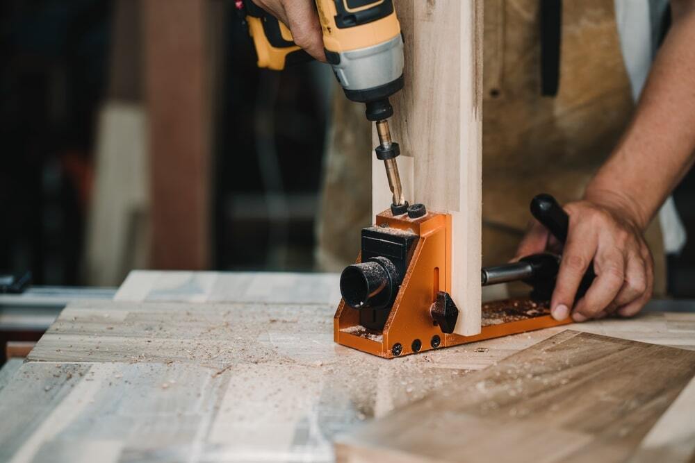
[[[308,56],[293,42],[288,28],[251,0],[236,1],[244,11],[253,37],[259,67],[281,70]],[[393,0],[316,0],[326,59],[345,96],[366,104],[366,116],[379,136],[375,149],[384,161],[393,193],[391,212],[407,212],[395,158],[398,143],[391,140],[389,96],[403,88],[403,39]]]

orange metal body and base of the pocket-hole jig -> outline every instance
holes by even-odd
[[[379,332],[364,328],[359,324],[359,310],[341,301],[334,317],[336,343],[393,358],[571,322],[570,319],[556,321],[550,315],[541,314],[482,326],[480,334],[474,336],[443,333],[433,321],[430,308],[440,291],[449,293],[451,289],[450,214],[429,212],[424,217],[410,219],[407,215],[393,217],[386,210],[377,215],[376,224],[418,235],[416,248],[384,329]]]

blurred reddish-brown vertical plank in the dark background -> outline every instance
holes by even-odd
[[[208,2],[147,0],[145,95],[151,171],[151,264],[210,262],[211,63]]]

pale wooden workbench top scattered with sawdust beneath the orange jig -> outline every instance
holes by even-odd
[[[0,461],[332,461],[336,434],[565,329],[383,360],[333,343],[337,287],[134,272],[72,303],[0,389]],[[695,349],[695,313],[571,328]]]

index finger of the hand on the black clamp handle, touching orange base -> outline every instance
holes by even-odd
[[[579,222],[576,226],[573,225],[570,219],[567,242],[562,262],[560,262],[559,272],[557,273],[555,291],[550,302],[553,317],[556,319],[564,319],[566,314],[569,314],[580,282],[589,268],[589,264],[591,264],[598,247],[597,230],[582,222]],[[556,314],[557,317],[565,314],[565,317],[557,318]]]

